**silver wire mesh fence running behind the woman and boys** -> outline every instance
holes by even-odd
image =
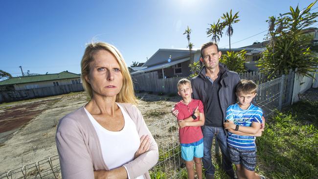
[[[294,75],[294,74],[292,74]],[[282,75],[272,81],[260,84],[256,95],[256,102],[266,115],[271,115],[275,109],[290,105],[294,76]],[[185,166],[181,158],[177,120],[170,116],[155,123],[148,124],[159,146],[159,162],[151,169],[152,179],[182,178]],[[218,154],[216,146],[215,154]],[[61,179],[59,157],[53,156],[24,165],[6,173],[0,174],[0,179]]]

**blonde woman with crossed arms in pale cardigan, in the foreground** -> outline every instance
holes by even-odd
[[[122,55],[113,45],[89,44],[81,70],[91,101],[59,122],[56,145],[63,179],[150,179],[158,146],[134,106]]]

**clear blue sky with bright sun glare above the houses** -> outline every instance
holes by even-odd
[[[19,66],[29,73],[80,73],[86,45],[99,41],[116,46],[130,66],[159,48],[186,48],[187,26],[190,42],[200,48],[210,40],[209,24],[231,9],[240,19],[233,24],[231,48],[247,46],[264,40],[269,16],[313,1],[0,0],[0,69],[12,76],[22,76]],[[218,44],[228,48],[225,32]]]

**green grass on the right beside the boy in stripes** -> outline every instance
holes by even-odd
[[[256,140],[258,165],[270,179],[318,179],[318,102],[300,101],[267,122]]]

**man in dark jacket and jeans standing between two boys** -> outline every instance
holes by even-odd
[[[234,171],[227,149],[227,131],[223,128],[226,110],[229,105],[236,103],[235,87],[240,81],[236,72],[229,71],[219,63],[222,52],[213,42],[202,45],[200,61],[204,67],[200,74],[191,79],[193,99],[200,99],[204,105],[205,123],[202,127],[204,140],[203,166],[205,178],[214,179],[215,167],[211,160],[213,137],[216,136],[222,152],[222,166],[230,178]],[[178,115],[177,110],[172,110]],[[262,124],[264,128],[264,123]]]

